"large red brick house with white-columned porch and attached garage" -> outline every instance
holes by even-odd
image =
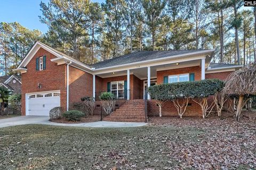
[[[210,63],[213,55],[212,49],[147,51],[89,66],[37,41],[15,69],[21,73],[23,80],[22,115],[49,115],[50,109],[56,106],[68,110],[72,103],[81,101],[81,97],[93,96],[98,100],[102,91],[110,91],[119,98],[130,100],[123,111],[129,108],[128,111],[133,112],[127,105],[135,107],[142,103],[141,99],[149,99],[146,92],[149,86],[210,78],[224,80],[241,67]],[[117,116],[116,121],[136,119],[134,116],[125,120],[129,112],[122,115],[122,108],[119,111],[118,116],[122,118],[118,120]],[[148,114],[157,112],[154,101],[148,100]],[[166,103],[162,112],[163,115],[177,115],[172,103]],[[200,114],[200,106],[191,101],[185,115]],[[109,120],[115,121],[114,118]]]

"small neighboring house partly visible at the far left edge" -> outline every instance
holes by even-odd
[[[20,75],[4,75],[0,77],[0,87],[5,87],[12,94],[21,94],[21,76]]]

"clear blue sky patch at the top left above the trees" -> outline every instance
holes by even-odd
[[[0,0],[0,22],[19,22],[28,29],[38,29],[45,33],[48,28],[46,24],[39,21],[42,15],[39,4],[47,3],[49,0]],[[93,0],[93,2],[105,2],[104,0]]]

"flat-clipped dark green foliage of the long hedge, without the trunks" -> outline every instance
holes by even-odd
[[[151,99],[204,98],[216,94],[224,86],[219,79],[159,84],[148,88]]]

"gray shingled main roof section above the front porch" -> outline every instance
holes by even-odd
[[[175,56],[180,54],[199,52],[203,50],[205,49],[137,52],[137,53],[131,53],[131,54],[126,54],[119,57],[111,58],[103,62],[95,63],[94,65],[92,65],[92,67],[94,67],[95,69],[99,69],[102,67],[110,67],[110,66],[121,65],[121,64],[142,62],[146,60],[153,60],[156,58],[163,58],[163,57]]]

